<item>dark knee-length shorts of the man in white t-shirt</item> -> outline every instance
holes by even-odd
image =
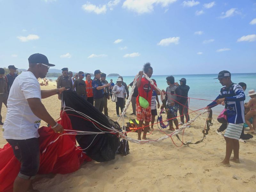
[[[12,146],[15,157],[21,163],[18,176],[22,179],[34,179],[40,164],[38,138],[6,139],[6,141]]]

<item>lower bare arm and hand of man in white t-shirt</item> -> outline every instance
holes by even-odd
[[[39,119],[44,120],[46,123],[48,123],[51,127],[56,125],[55,120],[51,117],[51,115],[48,113],[48,111],[45,109],[44,105],[42,104],[41,100],[39,98],[28,98],[28,105],[31,109],[31,111],[38,117]],[[55,127],[54,132],[62,132],[63,127],[61,125],[58,125]]]

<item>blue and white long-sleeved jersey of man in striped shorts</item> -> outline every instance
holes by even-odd
[[[224,86],[220,89],[220,95],[215,99],[215,101],[220,98],[225,98],[225,109],[227,111],[228,123],[244,123],[245,95],[243,88],[235,83],[232,83],[228,88]],[[217,103],[215,101],[207,106],[210,108],[216,106]]]

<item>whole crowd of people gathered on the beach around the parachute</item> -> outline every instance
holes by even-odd
[[[61,99],[61,93],[65,90],[72,89],[84,100],[94,105],[96,109],[108,116],[108,101],[116,103],[116,115],[119,117],[122,113],[125,100],[129,97],[129,89],[123,81],[123,77],[119,76],[116,84],[113,80],[110,83],[106,81],[106,74],[100,70],[94,71],[94,78],[91,74],[79,71],[73,77],[73,73],[68,68],[62,68],[62,75],[57,79],[57,89],[41,90],[38,78],[45,78],[51,66],[47,57],[36,53],[28,58],[28,71],[17,75],[17,68],[9,65],[10,73],[5,75],[3,68],[0,68],[0,112],[2,104],[7,107],[6,119],[3,127],[3,136],[13,148],[15,157],[20,161],[21,168],[16,180],[14,181],[13,191],[27,191],[31,179],[33,179],[39,168],[39,142],[38,128],[41,119],[48,123],[55,133],[62,133],[63,127],[55,122],[55,120],[46,111],[41,102],[42,98],[47,98],[58,94]],[[167,88],[161,92],[157,87],[156,81],[154,85],[144,77],[143,73],[151,78],[153,68],[150,63],[143,66],[143,70],[139,72],[139,78],[136,82],[135,89],[132,93],[132,114],[136,115],[139,120],[139,126],[144,123],[143,135],[142,129],[138,129],[138,140],[147,139],[148,129],[152,128],[149,124],[154,124],[157,116],[156,108],[160,108],[158,95],[165,94],[167,118],[169,120],[170,130],[178,129],[189,121],[188,114],[188,91],[189,86],[185,78],[180,79],[180,84],[175,82],[173,76],[166,77]],[[85,81],[84,81],[85,76]],[[212,108],[218,104],[224,104],[225,110],[223,115],[226,119],[226,128],[224,138],[226,140],[226,156],[221,162],[222,165],[230,166],[229,160],[232,151],[234,157],[232,161],[239,163],[239,138],[246,122],[250,127],[250,132],[254,132],[256,128],[256,93],[254,90],[249,91],[250,101],[244,104],[246,84],[235,84],[231,81],[231,73],[221,71],[216,78],[223,86],[219,96],[206,108]],[[132,86],[133,82],[129,84]],[[7,101],[8,98],[8,101]],[[164,105],[161,106],[164,108]],[[246,115],[245,109],[247,110]],[[120,109],[120,110],[119,110]],[[180,113],[180,123],[178,122],[178,111]],[[1,114],[1,113],[0,113]],[[185,116],[185,118],[184,118]],[[250,120],[252,119],[252,121]],[[253,121],[254,119],[254,121]],[[0,124],[2,116],[0,115]],[[173,124],[175,128],[173,127]],[[217,130],[221,132],[221,130]]]

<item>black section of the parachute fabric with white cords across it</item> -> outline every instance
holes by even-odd
[[[75,111],[82,112],[92,119],[98,121],[98,126],[96,125],[98,128],[96,128],[92,123],[94,122],[93,120],[90,121],[86,118],[84,119],[82,115],[75,111],[66,111],[74,130],[100,133],[100,130],[107,132],[111,131],[106,127],[114,127],[116,130],[121,131],[121,127],[117,122],[109,119],[99,110],[97,110],[92,104],[85,101],[81,96],[77,95],[74,91],[64,91],[62,93],[62,102],[65,110],[72,108]],[[106,127],[103,127],[100,124]],[[118,134],[77,134],[76,141],[89,157],[98,162],[115,159],[116,153],[121,153],[123,155],[129,154],[128,142],[125,140],[120,142]]]

